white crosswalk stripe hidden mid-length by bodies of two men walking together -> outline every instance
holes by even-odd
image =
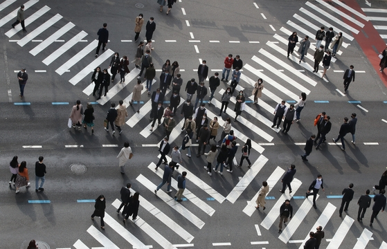
[[[159,168],[159,169],[155,170],[154,169],[155,167],[156,167],[155,163],[150,163],[150,165],[148,165],[148,169],[150,169],[157,176],[159,176],[161,179],[163,179],[163,173],[164,173],[163,169]],[[177,187],[177,181],[174,180],[174,178],[171,178],[171,179],[172,179],[171,187],[173,187],[175,190],[179,190],[179,187]],[[165,188],[166,188],[166,185],[165,185]],[[159,190],[159,191],[163,191],[163,190]],[[188,201],[195,204],[198,208],[203,210],[203,212],[205,212],[209,216],[213,216],[213,214],[215,213],[215,210],[213,208],[211,208],[210,205],[208,205],[207,203],[205,203],[204,201],[199,199],[195,194],[190,192],[190,190],[188,190],[188,188],[186,188],[186,190],[184,190],[183,194],[184,194],[184,196],[186,196],[186,199],[188,199]],[[190,241],[187,241],[187,242],[190,242]]]

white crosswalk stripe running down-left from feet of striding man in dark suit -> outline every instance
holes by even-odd
[[[316,199],[318,199],[318,194]],[[293,236],[294,232],[296,232],[298,226],[303,223],[303,219],[305,219],[305,216],[307,216],[307,213],[310,211],[312,206],[312,200],[309,200],[308,198],[304,199],[303,204],[300,205],[300,208],[298,208],[296,214],[294,214],[293,219],[291,219],[285,229],[282,230],[278,239],[284,243],[287,243],[291,236]]]

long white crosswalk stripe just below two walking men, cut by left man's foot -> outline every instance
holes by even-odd
[[[180,169],[180,168],[179,168]],[[137,176],[136,180],[143,184],[145,187],[147,187],[148,190],[151,192],[154,192],[156,190],[156,185],[154,185],[150,180],[148,180],[145,176],[140,174]],[[192,224],[194,224],[197,228],[201,229],[204,226],[204,221],[201,221],[195,214],[192,214],[188,209],[186,209],[183,205],[181,205],[178,201],[175,201],[170,195],[166,194],[165,192],[158,192],[157,196],[159,199],[164,201],[166,204],[168,204],[171,208],[176,210],[181,216],[183,216],[185,219],[190,221]]]

